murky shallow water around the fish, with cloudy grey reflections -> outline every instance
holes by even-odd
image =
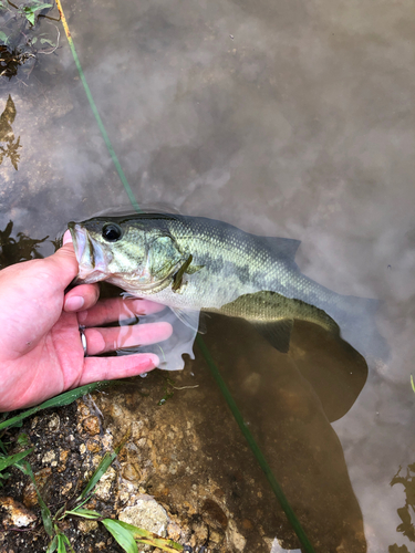
[[[302,325],[283,357],[219,320],[206,341],[312,535],[338,546],[363,520],[369,552],[411,551],[414,534],[397,531],[405,489],[391,481],[415,461],[413,2],[63,7],[138,204],[299,239],[310,278],[382,300],[391,357],[365,384],[360,359]],[[9,94],[15,111],[0,146],[20,155],[18,170],[10,156],[0,166],[0,230],[12,220],[17,241],[54,239],[69,220],[127,202],[64,36],[39,58],[0,87],[0,112]],[[1,263],[33,246],[20,237]],[[364,551],[362,539],[347,543]]]

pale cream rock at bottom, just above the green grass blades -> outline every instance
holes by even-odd
[[[162,536],[167,534],[167,513],[151,495],[142,495],[135,505],[125,508],[118,519]]]

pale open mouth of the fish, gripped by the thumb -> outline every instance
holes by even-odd
[[[108,261],[101,244],[76,222],[69,222],[73,248],[79,264],[74,284],[91,284],[107,278]]]

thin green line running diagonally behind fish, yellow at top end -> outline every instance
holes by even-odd
[[[73,43],[73,40],[72,40],[72,36],[71,36],[71,32],[69,30],[69,27],[68,27],[68,23],[66,23],[66,18],[65,18],[65,14],[63,13],[63,8],[62,8],[62,3],[61,3],[61,0],[56,0],[56,6],[58,6],[58,9],[59,9],[59,12],[61,14],[61,19],[62,19],[62,24],[63,24],[63,29],[65,31],[65,34],[66,34],[66,39],[68,39],[68,43],[70,45],[70,49],[71,49],[71,52],[72,52],[72,55],[73,55],[73,59],[74,59],[74,62],[75,62],[75,65],[77,67],[77,71],[80,73],[80,79],[81,79],[81,82],[84,86],[84,90],[85,90],[85,94],[86,94],[86,97],[90,102],[90,106],[92,108],[92,112],[95,116],[95,119],[96,119],[96,123],[100,127],[100,131],[101,131],[101,134],[104,138],[104,142],[105,142],[105,145],[110,152],[110,155],[111,155],[111,158],[115,165],[115,168],[116,168],[116,171],[118,174],[118,177],[120,177],[120,180],[122,181],[123,186],[124,186],[124,189],[128,196],[128,199],[132,204],[132,206],[134,207],[134,209],[137,211],[137,212],[142,212],[136,199],[135,199],[135,196],[133,194],[133,190],[126,179],[126,176],[121,167],[121,164],[118,161],[118,158],[116,157],[116,154],[115,154],[115,150],[111,144],[111,140],[110,140],[110,137],[108,135],[106,134],[106,131],[105,131],[105,127],[104,127],[104,124],[101,119],[101,116],[98,114],[98,111],[97,111],[97,107],[96,107],[96,104],[94,102],[94,98],[91,94],[91,90],[87,85],[87,82],[86,82],[86,79],[85,79],[85,75],[84,75],[84,72],[82,70],[82,65],[81,65],[81,62],[77,58],[77,54],[76,54],[76,50],[75,50],[75,45]],[[225,397],[225,400],[226,403],[228,404],[232,415],[234,415],[234,418],[235,420],[237,421],[245,439],[247,440],[253,456],[256,457],[259,466],[261,467],[261,469],[263,470],[267,479],[268,479],[268,482],[270,483],[271,486],[271,489],[273,491],[273,493],[276,494],[280,505],[281,505],[281,509],[283,510],[283,512],[286,513],[287,515],[287,519],[289,520],[290,524],[292,525],[292,529],[294,530],[301,545],[304,547],[305,550],[305,553],[314,553],[314,549],[313,546],[311,545],[309,539],[307,538],[305,535],[305,532],[304,530],[302,529],[301,524],[300,524],[300,521],[298,520],[294,511],[292,510],[290,503],[288,502],[288,499],[286,498],[286,494],[283,493],[280,484],[278,483],[276,477],[273,476],[272,473],[272,470],[270,468],[270,466],[268,465],[262,451],[260,450],[258,444],[256,442],[253,436],[251,435],[251,432],[249,431],[245,420],[243,420],[243,417],[234,399],[234,397],[231,396],[227,385],[225,384],[225,380],[222,379],[220,373],[219,373],[219,369],[218,367],[216,366],[216,363],[214,361],[214,358],[211,357],[210,353],[209,353],[209,349],[207,348],[204,340],[201,338],[200,335],[197,335],[196,337],[196,342],[199,346],[199,349],[201,351],[201,354],[203,356],[205,357],[205,361],[210,369],[210,373],[214,377],[214,379],[216,380],[217,385],[219,386],[219,389],[222,394],[222,396]]]

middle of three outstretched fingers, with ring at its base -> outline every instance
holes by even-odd
[[[167,340],[172,333],[172,325],[165,322],[110,328],[86,328],[86,353],[87,355],[97,355],[122,347],[155,344]]]

